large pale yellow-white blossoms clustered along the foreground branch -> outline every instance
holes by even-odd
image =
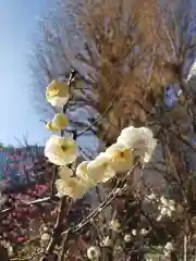
[[[63,107],[72,99],[71,87],[65,82],[53,80],[46,91],[46,99],[51,105],[61,108],[53,120],[47,123],[51,132],[65,130],[69,120],[63,113]],[[76,170],[72,167],[79,154],[76,141],[70,134],[52,135],[46,144],[45,156],[49,161],[59,166],[59,177],[56,181],[59,197],[70,196],[73,200],[82,198],[91,187],[106,183],[118,173],[124,173],[132,169],[135,157],[147,163],[157,139],[147,127],[124,128],[117,142],[99,153],[91,161],[83,161]]]

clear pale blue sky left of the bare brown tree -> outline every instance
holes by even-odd
[[[16,145],[14,137],[28,134],[30,144],[48,136],[29,99],[29,39],[37,18],[46,14],[50,0],[0,1],[0,141]]]

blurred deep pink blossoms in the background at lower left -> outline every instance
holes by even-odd
[[[8,210],[8,214],[1,217],[1,243],[4,240],[5,243],[15,245],[27,240],[27,237],[33,231],[33,221],[38,216],[42,216],[41,219],[44,219],[45,207],[42,206],[42,210],[40,211],[37,206],[30,206],[29,208],[25,202],[36,200],[40,196],[47,196],[48,187],[49,184],[36,184],[22,192],[8,191],[8,195],[1,196],[5,198],[1,208]]]

